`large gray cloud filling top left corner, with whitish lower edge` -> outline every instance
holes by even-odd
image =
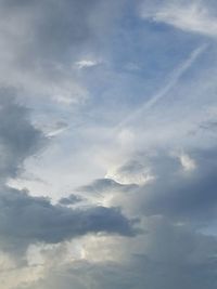
[[[65,105],[87,100],[88,90],[73,64],[90,66],[90,61],[79,60],[94,54],[101,41],[104,31],[97,18],[101,22],[104,15],[107,32],[112,28],[110,5],[114,3],[103,6],[99,0],[1,1],[1,83]]]

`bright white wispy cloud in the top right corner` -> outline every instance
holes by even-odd
[[[155,1],[156,2],[156,1]],[[143,18],[165,23],[183,31],[217,37],[217,16],[205,1],[162,1],[149,6],[144,2]],[[148,5],[146,5],[148,3]]]

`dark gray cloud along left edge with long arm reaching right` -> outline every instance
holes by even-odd
[[[43,144],[44,136],[34,128],[27,109],[9,91],[0,98],[0,245],[5,250],[23,250],[34,242],[60,242],[90,232],[133,235],[133,222],[117,208],[89,207],[72,210],[54,206],[43,197],[10,188],[8,178],[17,176],[24,160]]]

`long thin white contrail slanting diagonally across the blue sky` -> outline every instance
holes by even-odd
[[[202,47],[195,49],[190,56],[182,63],[171,75],[168,83],[161,89],[156,94],[154,94],[148,102],[143,103],[136,111],[133,111],[129,117],[125,118],[123,121],[120,121],[116,128],[115,131],[122,129],[127,123],[136,119],[141,113],[146,111],[150,109],[153,105],[155,105],[156,102],[162,100],[179,81],[179,79],[182,77],[182,75],[193,65],[193,63],[197,60],[197,57],[207,49],[208,44],[203,44]]]

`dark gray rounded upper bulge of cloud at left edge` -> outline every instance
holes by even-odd
[[[0,90],[0,178],[14,178],[24,160],[44,144],[42,133],[29,122],[28,110],[14,100],[14,91]]]

